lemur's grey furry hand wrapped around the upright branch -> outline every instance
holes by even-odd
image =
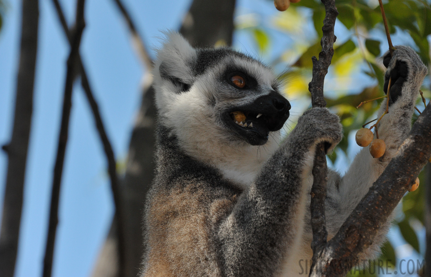
[[[304,143],[315,145],[319,142],[328,143],[326,150],[331,151],[343,137],[343,126],[340,118],[327,108],[312,108],[304,112],[298,120],[297,135]]]

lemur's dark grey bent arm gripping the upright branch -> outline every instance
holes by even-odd
[[[306,203],[315,146],[334,147],[342,137],[337,115],[313,108],[299,119],[280,149],[241,194],[216,232],[225,276],[272,276],[295,247]]]

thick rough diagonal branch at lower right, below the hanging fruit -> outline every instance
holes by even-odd
[[[419,115],[397,156],[325,246],[327,265],[319,276],[341,277],[356,265],[377,231],[415,183],[431,156],[431,104]],[[323,257],[323,256],[322,256]],[[324,258],[324,257],[323,257]]]

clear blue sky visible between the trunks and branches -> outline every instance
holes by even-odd
[[[73,22],[75,1],[60,1],[68,22]],[[0,144],[7,143],[19,58],[21,1],[6,0],[6,14],[0,32]],[[141,34],[150,46],[157,46],[160,30],[176,29],[189,0],[124,0]],[[265,19],[275,13],[271,1],[240,0],[238,14],[259,13]],[[81,56],[117,159],[125,159],[134,115],[140,103],[144,68],[131,47],[128,30],[114,1],[87,0],[86,28]],[[310,25],[312,27],[312,25]],[[40,0],[39,45],[34,90],[34,113],[25,177],[24,208],[17,261],[17,277],[41,275],[47,232],[52,171],[56,154],[65,62],[69,47],[50,0]],[[336,29],[340,39],[347,31]],[[269,56],[273,58],[292,39],[277,37]],[[315,35],[310,32],[310,37]],[[393,39],[394,40],[394,39]],[[396,39],[395,39],[396,40]],[[255,53],[256,46],[245,32],[236,32],[234,46]],[[383,47],[383,46],[382,46]],[[59,210],[54,277],[84,277],[91,273],[106,236],[113,213],[106,162],[84,94],[76,83],[73,90],[69,144],[66,152]],[[359,146],[358,146],[359,147]],[[349,153],[356,153],[353,146]],[[0,203],[6,179],[6,155],[0,153]],[[345,161],[340,159],[339,166]],[[340,168],[342,171],[344,168]]]

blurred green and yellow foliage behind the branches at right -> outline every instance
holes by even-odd
[[[325,81],[325,95],[328,97],[328,107],[340,115],[344,125],[344,139],[338,148],[347,155],[350,132],[356,132],[362,128],[362,124],[374,119],[380,105],[377,101],[373,101],[356,109],[362,101],[383,96],[384,67],[381,62],[376,61],[376,58],[381,56],[388,46],[377,0],[337,0],[337,9],[339,11],[337,19],[340,24],[336,25],[335,33],[337,34],[337,29],[345,28],[344,33],[347,33],[347,36],[338,37],[334,45],[334,57]],[[402,43],[412,46],[425,64],[430,64],[428,36],[431,34],[431,7],[429,3],[425,0],[390,0],[384,3],[384,9],[393,40],[394,37],[402,35]],[[261,26],[263,24],[256,24],[253,28],[244,28],[252,31],[256,45],[262,53],[268,51],[271,45],[270,34],[273,30],[297,39],[293,47],[286,47],[288,49],[274,59],[273,65],[275,68],[283,68],[279,65],[287,63],[289,69],[280,75],[280,79],[286,83],[287,95],[296,99],[305,98],[308,103],[310,102],[307,99],[308,82],[311,80],[311,57],[318,56],[321,51],[320,38],[324,16],[325,9],[320,1],[301,0],[299,3],[292,4],[287,11],[278,12],[271,26],[265,28]],[[306,27],[301,27],[306,26],[307,19],[313,22],[314,35],[310,34],[309,30],[304,31]],[[298,37],[304,37],[303,34],[307,34],[307,39],[298,40]],[[369,86],[359,91],[354,80],[358,75],[369,80]],[[331,83],[339,86],[331,86]],[[422,91],[429,100],[431,96],[429,88],[422,87]],[[420,110],[423,109],[422,105],[422,101],[418,100],[417,107]],[[290,127],[293,126],[290,124]],[[334,154],[329,157],[332,162],[338,159],[337,153],[340,151],[334,151]],[[425,184],[424,172],[419,175],[419,179],[421,184]],[[415,192],[406,194],[402,204],[403,215],[396,220],[403,239],[419,255],[423,254],[424,249],[420,248],[416,232],[418,228],[424,226],[424,190],[424,185],[420,185]],[[381,259],[390,260],[394,268],[397,263],[394,247],[386,243],[382,252]],[[358,274],[377,276],[367,272],[365,274],[353,272],[350,276]]]

